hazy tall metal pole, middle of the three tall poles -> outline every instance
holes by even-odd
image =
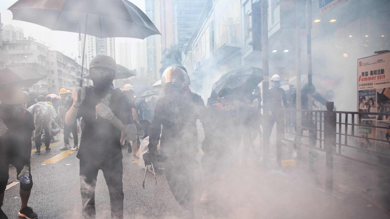
[[[299,2],[300,0],[295,0],[295,71],[296,71],[296,148],[297,148],[297,158],[301,159],[302,150],[301,150],[301,127],[302,127],[302,112],[301,109],[301,23],[298,16],[299,12]]]

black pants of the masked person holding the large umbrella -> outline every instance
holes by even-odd
[[[96,217],[95,187],[97,173],[103,171],[110,193],[111,217],[123,218],[123,184],[122,159],[111,159],[109,162],[80,159],[80,193],[83,202],[83,215],[86,218]]]

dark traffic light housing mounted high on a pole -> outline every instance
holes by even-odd
[[[252,3],[252,49],[261,51],[261,1]]]

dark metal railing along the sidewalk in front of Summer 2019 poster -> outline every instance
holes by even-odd
[[[333,102],[327,102],[326,109],[278,111],[276,153],[279,167],[283,140],[294,144],[298,160],[303,157],[301,146],[309,148],[307,156],[311,170],[314,170],[315,151],[325,152],[327,193],[333,192],[334,156],[378,168],[390,168],[390,121],[377,120],[389,117],[390,113],[333,111]],[[294,140],[288,138],[291,136]]]

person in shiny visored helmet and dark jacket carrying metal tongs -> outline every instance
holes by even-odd
[[[199,166],[195,160],[198,152],[196,120],[203,119],[206,108],[202,97],[188,87],[190,80],[184,69],[171,65],[161,76],[165,95],[156,103],[149,131],[149,150],[143,158],[145,166],[158,160],[162,162],[175,199],[193,213],[194,171]]]

